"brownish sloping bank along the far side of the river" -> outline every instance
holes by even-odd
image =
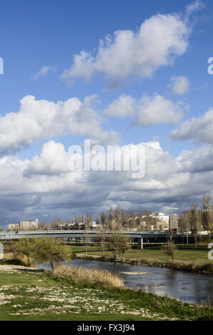
[[[99,256],[91,254],[78,254],[74,252],[73,257],[76,259],[95,259],[105,262],[114,262],[114,257]],[[202,274],[213,274],[213,263],[198,263],[198,262],[184,262],[175,260],[172,261],[160,261],[158,259],[144,259],[144,258],[124,258],[122,261],[117,260],[116,262],[123,262],[132,265],[144,265],[146,267],[167,267],[170,269],[178,269],[188,272],[199,272]]]

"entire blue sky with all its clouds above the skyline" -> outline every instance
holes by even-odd
[[[213,196],[212,31],[211,0],[0,0],[0,225]],[[144,177],[71,171],[85,139]]]

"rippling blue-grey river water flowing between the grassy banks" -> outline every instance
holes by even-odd
[[[152,292],[159,296],[167,295],[184,302],[207,304],[208,300],[213,298],[212,275],[96,260],[72,259],[70,264],[107,269],[122,277],[125,286],[131,289],[142,289],[144,292]],[[49,269],[46,264],[37,267]]]

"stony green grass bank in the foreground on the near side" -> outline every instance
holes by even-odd
[[[198,320],[212,307],[132,289],[74,283],[51,272],[0,268],[0,320]]]

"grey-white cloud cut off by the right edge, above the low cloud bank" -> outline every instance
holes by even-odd
[[[197,143],[213,143],[213,108],[200,118],[184,121],[169,134],[172,140],[194,140]]]

